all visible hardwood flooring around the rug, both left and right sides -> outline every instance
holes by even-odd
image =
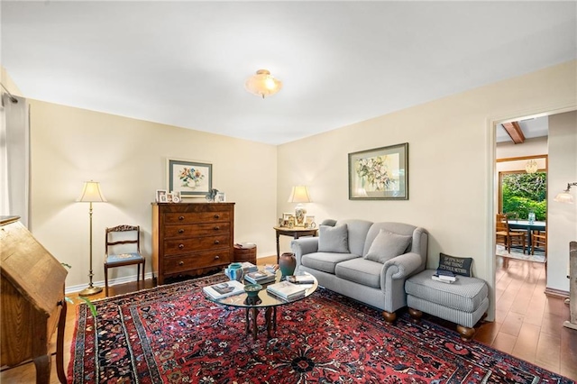
[[[259,264],[273,263],[276,256],[259,259]],[[499,261],[499,260],[498,260]],[[500,262],[500,261],[499,261]],[[577,380],[577,331],[563,327],[569,319],[569,307],[560,297],[546,297],[544,264],[510,260],[508,268],[497,271],[497,316],[495,322],[478,326],[474,339],[519,359]],[[140,288],[151,288],[146,280]],[[138,290],[136,282],[110,287],[116,296]],[[70,295],[75,299],[75,295]],[[104,292],[91,299],[103,298]],[[79,303],[78,298],[75,299]],[[77,305],[69,305],[67,314],[64,366],[68,370],[70,343],[74,334]],[[442,324],[441,321],[438,322]],[[454,329],[454,328],[452,328]],[[56,350],[56,337],[52,338]],[[67,372],[68,374],[68,372]],[[34,383],[36,370],[32,362],[0,373],[1,383]],[[56,362],[52,356],[50,384],[57,384]]]

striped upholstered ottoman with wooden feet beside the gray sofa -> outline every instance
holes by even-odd
[[[489,307],[487,283],[465,276],[444,283],[431,279],[435,272],[423,270],[405,282],[409,314],[418,319],[425,312],[453,322],[463,341],[470,341],[475,334],[473,326]]]

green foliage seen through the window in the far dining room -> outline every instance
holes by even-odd
[[[546,193],[545,172],[506,174],[501,185],[503,213],[512,219],[527,220],[529,212],[534,212],[537,221],[545,221]]]

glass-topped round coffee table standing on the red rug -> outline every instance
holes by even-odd
[[[308,288],[305,289],[304,295],[299,295],[298,297],[292,299],[284,299],[281,297],[277,297],[272,295],[270,292],[267,291],[267,286],[273,284],[274,282],[279,282],[282,277],[280,274],[280,270],[277,270],[276,273],[276,280],[270,283],[263,283],[262,289],[259,292],[259,295],[256,297],[248,297],[246,293],[241,293],[239,295],[223,297],[223,298],[214,298],[208,294],[204,294],[205,297],[219,305],[222,306],[236,306],[245,309],[245,320],[246,325],[244,327],[247,334],[252,333],[252,338],[256,340],[257,334],[259,331],[259,327],[257,325],[257,317],[259,315],[259,311],[264,310],[264,319],[265,325],[267,328],[267,337],[270,339],[270,331],[272,329],[277,329],[277,306],[286,306],[290,303],[297,302],[302,300],[305,297],[309,297],[313,292],[315,292],[316,288],[318,288],[318,282],[313,275],[310,275],[307,272],[302,273],[302,275],[307,275],[313,278],[314,282],[312,284],[303,284]],[[243,281],[244,284],[249,284],[248,281]],[[204,291],[203,291],[204,292]]]

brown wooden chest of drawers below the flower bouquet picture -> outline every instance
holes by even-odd
[[[152,274],[196,276],[234,257],[234,203],[152,203]]]

